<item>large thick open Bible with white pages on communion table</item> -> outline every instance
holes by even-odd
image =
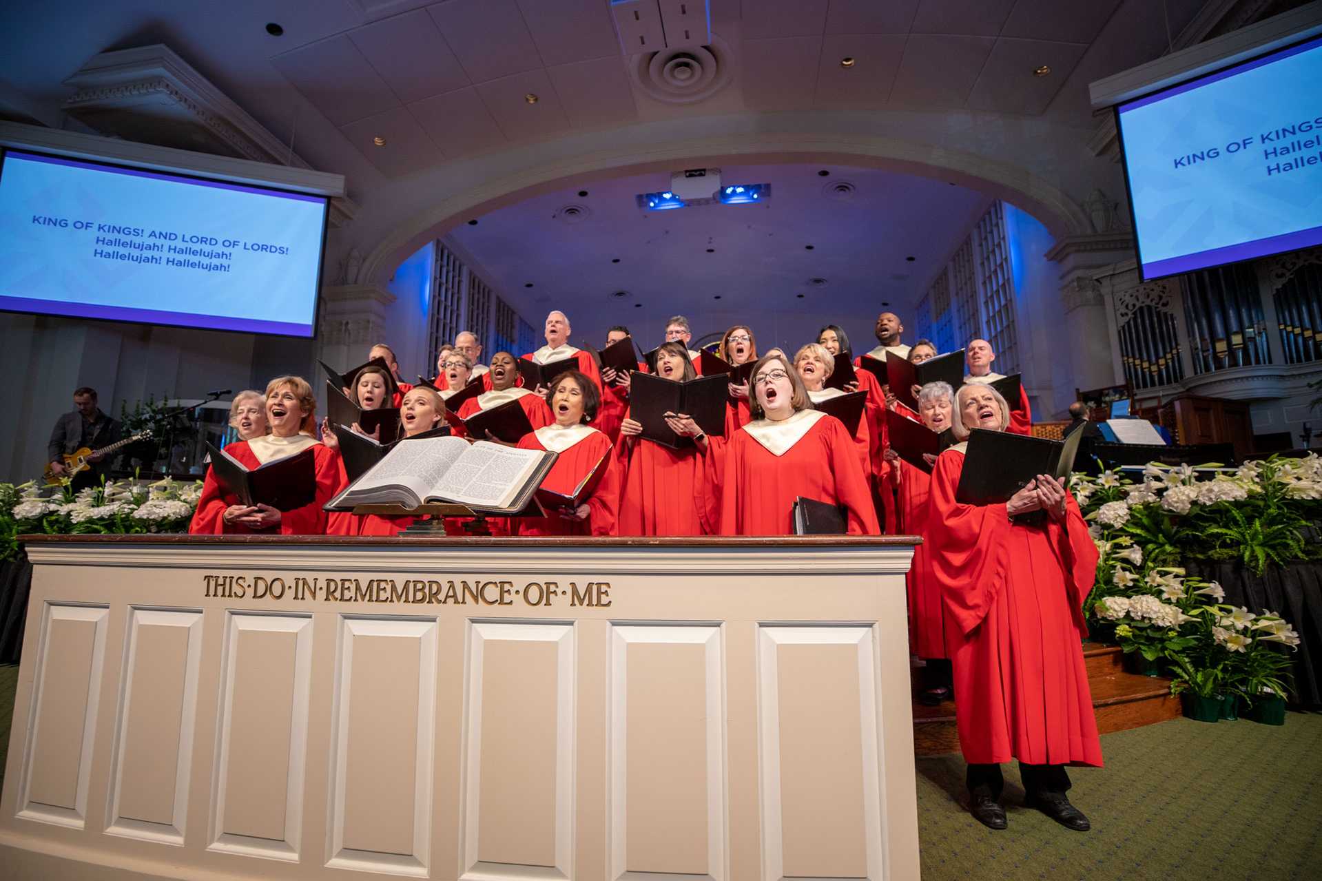
[[[406,509],[451,501],[481,513],[516,513],[551,470],[555,454],[463,438],[397,443],[368,474],[327,503],[327,511],[398,504]]]

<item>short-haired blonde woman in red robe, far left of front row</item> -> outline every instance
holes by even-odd
[[[268,462],[292,456],[308,447],[313,448],[316,468],[316,499],[312,504],[278,511],[271,505],[243,505],[238,497],[221,489],[215,470],[206,470],[202,495],[188,530],[194,534],[263,533],[283,536],[319,536],[325,532],[327,515],[321,507],[330,501],[340,483],[340,456],[316,442],[317,399],[312,386],[297,376],[280,376],[266,386],[266,422],[270,434],[235,441],[225,452],[247,468],[258,468]]]

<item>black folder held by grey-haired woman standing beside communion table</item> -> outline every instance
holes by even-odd
[[[1081,435],[1081,431],[1073,431],[1062,443],[973,429],[954,500],[965,505],[994,505],[1009,500],[1039,474],[1067,479],[1073,470]]]

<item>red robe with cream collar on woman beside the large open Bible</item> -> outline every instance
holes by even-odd
[[[613,536],[620,503],[620,466],[612,455],[611,441],[586,425],[542,426],[518,442],[521,450],[549,450],[559,454],[542,487],[566,495],[583,483],[594,467],[605,468],[600,483],[587,500],[591,513],[586,520],[564,517],[510,517],[521,536]],[[604,462],[603,462],[604,459]],[[600,463],[600,464],[599,464]]]

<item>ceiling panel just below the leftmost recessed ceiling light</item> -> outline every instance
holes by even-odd
[[[271,63],[336,126],[399,106],[395,93],[344,34],[278,56]]]

